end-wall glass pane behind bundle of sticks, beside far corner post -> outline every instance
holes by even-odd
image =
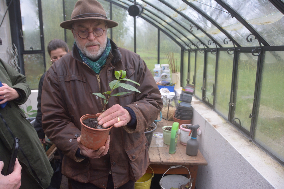
[[[174,53],[174,60],[180,68],[180,52],[181,48],[166,34],[160,32],[160,64],[169,64],[166,54]]]

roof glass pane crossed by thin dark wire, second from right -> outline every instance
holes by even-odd
[[[227,12],[221,5],[214,0],[198,0],[190,2],[201,9],[209,17],[215,20],[223,29],[225,29],[241,46],[258,46],[256,44],[248,44],[246,41],[247,35],[250,31],[243,26],[235,17],[232,18],[231,14]],[[211,6],[211,7],[210,7]],[[228,45],[233,45],[228,44]],[[222,43],[222,46],[225,46]]]

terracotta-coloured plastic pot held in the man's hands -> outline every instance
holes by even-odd
[[[83,121],[85,119],[96,118],[96,117],[97,117],[97,114],[86,114],[80,118],[80,122],[82,125],[81,136],[80,136],[81,143],[86,148],[89,148],[92,150],[97,150],[101,146],[105,146],[108,133],[110,129],[113,127],[111,126],[110,128],[107,128],[107,129],[93,129],[83,124]]]

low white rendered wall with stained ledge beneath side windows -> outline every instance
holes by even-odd
[[[192,124],[199,124],[199,150],[208,162],[199,166],[197,189],[284,188],[284,169],[265,152],[193,97]]]

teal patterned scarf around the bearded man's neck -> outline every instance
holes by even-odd
[[[110,40],[107,38],[107,44],[106,44],[106,48],[105,51],[103,52],[103,54],[101,55],[101,57],[99,58],[99,60],[97,61],[92,61],[90,60],[88,57],[86,57],[82,51],[78,48],[76,42],[74,41],[75,46],[77,47],[79,54],[82,58],[82,60],[97,74],[100,73],[101,68],[103,65],[105,65],[106,63],[106,58],[108,57],[108,54],[110,52]]]

